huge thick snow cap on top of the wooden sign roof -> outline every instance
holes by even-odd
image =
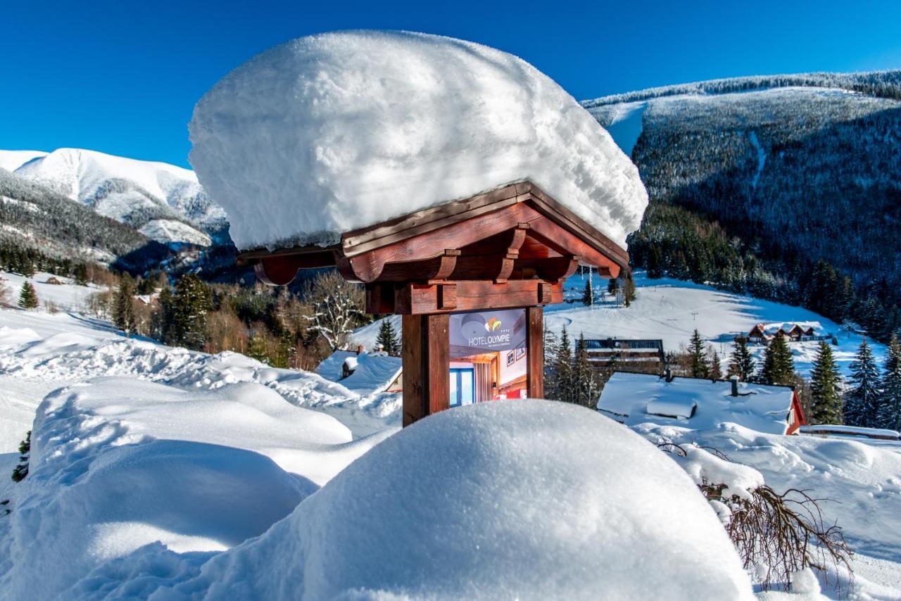
[[[413,32],[332,32],[250,59],[197,103],[191,164],[241,250],[529,179],[625,248],[648,195],[576,100],[522,59]]]

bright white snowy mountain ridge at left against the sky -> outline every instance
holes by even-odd
[[[227,227],[190,169],[71,148],[0,150],[0,167],[156,241],[207,246]]]

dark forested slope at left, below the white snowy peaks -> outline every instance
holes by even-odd
[[[0,244],[145,271],[172,253],[128,225],[0,168]]]

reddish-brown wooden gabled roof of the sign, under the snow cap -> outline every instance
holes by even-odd
[[[625,250],[528,181],[345,232],[331,247],[238,255],[239,264],[254,265],[258,277],[273,285],[289,283],[298,269],[330,266],[368,285],[554,285],[579,264],[616,277],[628,262]]]

